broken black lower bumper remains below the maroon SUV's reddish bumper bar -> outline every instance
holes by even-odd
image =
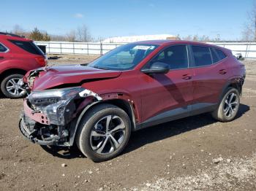
[[[57,125],[44,125],[35,122],[26,114],[20,115],[20,132],[29,141],[40,145],[56,145],[68,147],[68,130]]]

